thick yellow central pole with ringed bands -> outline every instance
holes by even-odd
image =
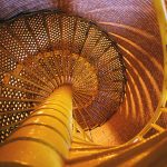
[[[72,132],[71,87],[55,90],[0,147],[0,166],[61,167]]]

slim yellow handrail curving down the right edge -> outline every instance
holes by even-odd
[[[126,145],[134,143],[138,139],[141,139],[150,129],[153,129],[153,125],[156,126],[157,120],[160,118],[161,114],[167,109],[167,10],[165,0],[154,0],[155,9],[157,12],[157,19],[159,23],[159,30],[161,36],[161,47],[164,51],[164,84],[163,90],[160,95],[159,104],[155,110],[153,118],[148,121],[145,128],[131,140],[129,140]],[[157,126],[156,126],[157,127]],[[165,130],[163,127],[159,127],[160,131]]]

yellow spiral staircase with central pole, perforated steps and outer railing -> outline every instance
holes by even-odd
[[[167,132],[158,121],[167,112],[167,18],[163,1],[155,7],[164,49],[161,97],[143,130],[115,147],[90,134],[124,101],[126,68],[117,42],[91,21],[59,10],[2,21],[0,166],[166,166]]]

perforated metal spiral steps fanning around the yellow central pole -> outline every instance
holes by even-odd
[[[122,57],[96,24],[40,11],[3,22],[0,40],[1,141],[61,85],[72,85],[73,118],[85,129],[118,109],[125,91]]]

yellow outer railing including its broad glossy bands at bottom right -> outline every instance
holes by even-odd
[[[155,0],[154,3],[157,12],[164,51],[164,84],[160,100],[154,116],[136,137],[124,145],[106,149],[87,145],[82,148],[78,147],[71,149],[72,151],[79,153],[78,158],[76,156],[69,160],[71,166],[79,161],[82,165],[89,164],[91,166],[99,165],[102,167],[118,166],[122,164],[130,166],[149,166],[153,163],[155,163],[155,166],[158,166],[158,164],[165,166],[167,163],[164,157],[167,153],[165,147],[167,145],[167,130],[158,125],[160,117],[164,114],[167,114],[167,10],[164,0]],[[157,132],[149,137],[145,137],[147,132],[153,129]],[[82,138],[85,137],[82,136]],[[132,157],[135,159],[130,160]],[[157,160],[159,160],[158,164],[156,164]]]

